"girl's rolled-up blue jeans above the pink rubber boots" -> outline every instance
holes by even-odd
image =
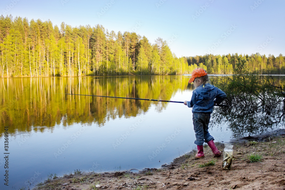
[[[194,143],[197,145],[203,145],[204,142],[207,143],[210,140],[214,140],[213,136],[211,136],[208,131],[211,114],[193,113],[192,115],[196,136],[196,140]]]

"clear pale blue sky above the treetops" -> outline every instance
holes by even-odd
[[[135,31],[166,40],[177,57],[285,55],[284,0],[1,0],[0,14],[53,25]],[[105,9],[105,10],[104,10]]]

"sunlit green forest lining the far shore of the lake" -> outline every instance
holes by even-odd
[[[146,36],[127,31],[116,34],[100,24],[72,27],[62,22],[59,27],[50,20],[0,18],[0,77],[181,75],[197,67],[208,73],[232,74],[241,57],[253,73],[285,73],[282,54],[177,58],[160,37],[151,44]]]

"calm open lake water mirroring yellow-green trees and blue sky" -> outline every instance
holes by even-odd
[[[192,109],[182,103],[66,95],[185,101],[194,89],[189,78],[1,78],[0,189],[32,188],[75,170],[158,168],[193,150]],[[210,133],[220,142],[232,134],[226,124]]]

